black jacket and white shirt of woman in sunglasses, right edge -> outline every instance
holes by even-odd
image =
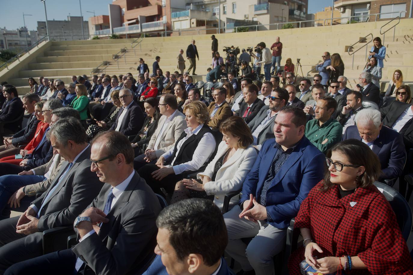
[[[406,150],[413,148],[413,106],[401,101],[392,101],[380,109],[383,125],[403,136]]]

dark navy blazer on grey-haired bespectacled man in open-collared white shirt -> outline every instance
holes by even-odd
[[[124,111],[125,109],[123,108],[119,110],[116,122],[112,125],[112,127],[110,127],[111,130],[116,129],[118,125],[119,116]],[[142,109],[138,106],[138,104],[135,101],[132,101],[132,105],[129,106],[128,110],[126,110],[126,115],[122,120],[119,132],[124,134],[125,136],[136,135],[138,134],[140,128],[142,128],[144,120],[145,117],[143,116]]]

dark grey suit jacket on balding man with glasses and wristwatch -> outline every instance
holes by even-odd
[[[94,233],[72,248],[95,274],[140,274],[143,265],[154,255],[156,218],[161,211],[159,200],[137,172],[107,214],[99,233]],[[105,184],[86,208],[104,209],[109,194]],[[103,244],[103,245],[102,245]]]

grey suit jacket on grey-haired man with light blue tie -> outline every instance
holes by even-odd
[[[59,182],[60,176],[68,165],[69,162],[63,162],[62,169],[47,191],[33,201],[39,209],[38,229],[40,232],[57,226],[73,225],[75,218],[93,201],[102,188],[103,183],[99,181],[96,173],[90,171],[90,146],[78,157],[69,172]],[[44,207],[40,209],[43,200],[57,183],[59,185],[47,199]]]

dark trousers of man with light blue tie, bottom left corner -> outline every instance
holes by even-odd
[[[14,263],[43,254],[40,241],[42,233],[36,232],[28,236],[16,233],[18,220],[19,217],[13,217],[0,221],[0,274],[3,274]]]

